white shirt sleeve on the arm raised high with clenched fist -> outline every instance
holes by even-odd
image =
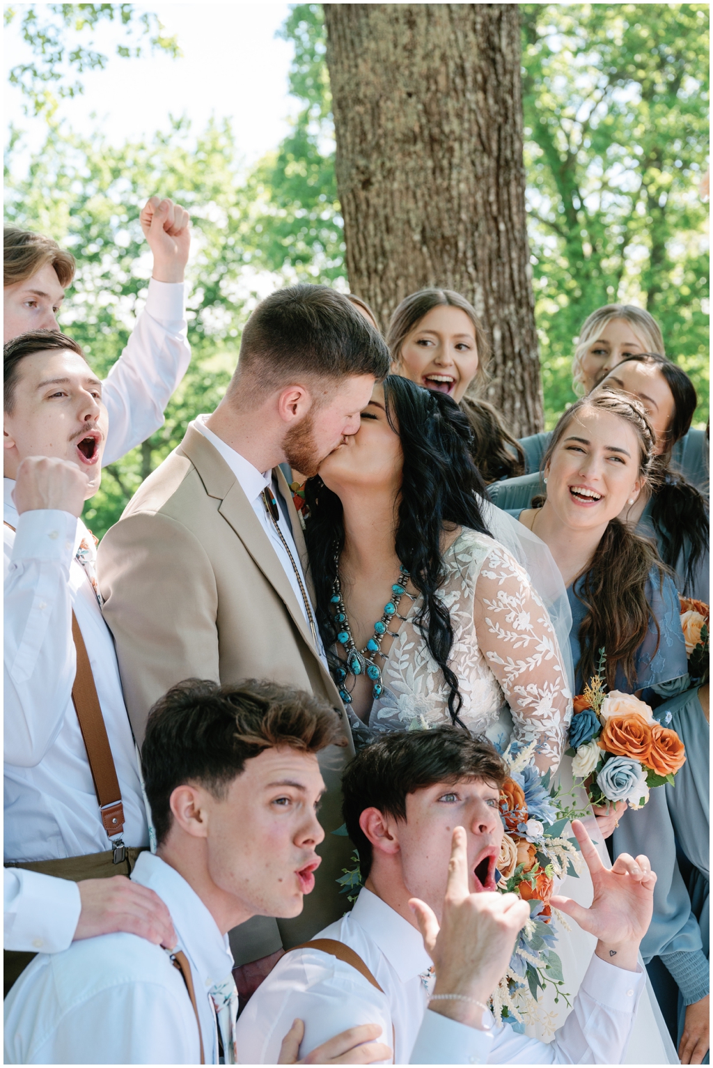
[[[150,279],[144,310],[102,383],[109,412],[102,467],[121,459],[163,425],[163,409],[186,374],[185,285]]]

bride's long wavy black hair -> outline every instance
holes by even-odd
[[[415,623],[448,687],[450,718],[460,723],[458,712],[463,698],[458,678],[448,666],[454,639],[450,614],[437,596],[445,581],[441,537],[444,528],[450,525],[490,533],[479,504],[486,487],[471,457],[470,423],[450,397],[399,375],[389,375],[383,390],[386,419],[403,453],[396,555],[423,594]],[[307,481],[305,498],[310,506],[305,538],[317,621],[324,647],[332,650],[337,628],[330,597],[336,577],[335,553],[344,547],[342,501],[319,475]],[[333,669],[344,664],[333,651],[328,657]]]

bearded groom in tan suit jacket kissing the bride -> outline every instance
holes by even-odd
[[[390,365],[379,335],[342,294],[280,289],[245,324],[237,370],[210,415],[143,483],[97,561],[105,618],[116,642],[139,744],[148,709],[190,677],[267,678],[327,698],[349,726],[329,672],[305,575],[298,514],[279,465],[306,475],[355,434],[374,383]],[[274,958],[344,908],[336,878],[349,843],[340,773],[349,748],[320,753],[327,784],[326,855],[296,920],[256,917],[232,936],[237,964]],[[273,960],[256,965],[260,973]]]

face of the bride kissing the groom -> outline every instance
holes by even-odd
[[[359,430],[322,460],[319,476],[337,497],[343,489],[356,486],[387,488],[396,494],[402,470],[401,442],[386,419],[383,386],[375,386]]]

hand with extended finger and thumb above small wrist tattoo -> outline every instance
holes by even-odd
[[[651,923],[655,873],[644,854],[634,859],[621,853],[605,867],[579,819],[572,820],[572,830],[591,875],[593,900],[588,909],[569,897],[553,896],[552,904],[599,939],[598,957],[635,971],[638,945]]]

